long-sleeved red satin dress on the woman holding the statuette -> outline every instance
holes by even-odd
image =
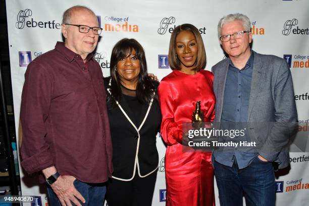
[[[191,122],[195,104],[201,101],[204,121],[215,117],[213,74],[200,70],[194,75],[174,70],[159,85],[162,111],[161,135],[166,142],[166,205],[215,205],[211,153],[183,152],[182,122]]]

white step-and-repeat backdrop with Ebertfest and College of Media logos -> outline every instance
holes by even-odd
[[[37,56],[54,49],[62,41],[63,12],[75,5],[89,7],[103,28],[94,58],[104,76],[110,74],[113,46],[121,38],[135,38],[146,53],[148,70],[162,79],[172,70],[168,64],[170,35],[183,23],[195,25],[204,41],[207,66],[224,58],[217,37],[217,24],[230,13],[243,13],[251,20],[252,49],[286,59],[294,81],[299,131],[307,140],[309,118],[309,1],[307,0],[234,0],[234,1],[7,1],[11,75],[16,130],[18,131],[21,92],[27,65]],[[16,132],[17,132],[16,131]],[[18,134],[18,133],[16,133]],[[160,156],[158,178],[152,205],[165,205],[165,150],[157,137]],[[276,205],[307,205],[309,202],[308,142],[293,146],[290,168],[276,174]],[[36,177],[25,176],[20,168],[23,195],[34,201],[24,205],[48,205],[44,185]],[[232,189],[232,188],[231,188]],[[220,205],[215,185],[216,203]]]

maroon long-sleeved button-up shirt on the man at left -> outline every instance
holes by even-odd
[[[27,173],[55,166],[61,175],[106,182],[113,172],[106,94],[99,64],[58,42],[25,73],[20,119]]]

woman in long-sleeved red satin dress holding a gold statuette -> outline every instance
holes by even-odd
[[[183,151],[182,123],[192,121],[201,101],[203,121],[214,120],[216,98],[213,74],[203,70],[206,55],[198,29],[191,24],[177,26],[170,40],[169,64],[173,72],[159,85],[162,110],[161,134],[166,142],[166,205],[215,205],[211,153]]]

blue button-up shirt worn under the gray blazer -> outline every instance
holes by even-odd
[[[225,82],[221,122],[248,121],[253,61],[253,52],[251,52],[245,67],[240,70],[230,61]],[[229,152],[214,151],[215,160],[225,166],[232,167],[236,158],[239,169],[247,167],[257,155],[256,151],[246,153],[238,151],[237,148],[235,148],[235,151]]]

